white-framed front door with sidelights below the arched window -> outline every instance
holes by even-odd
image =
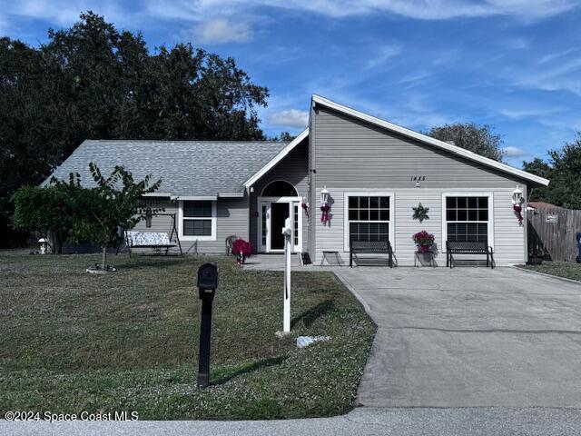
[[[300,213],[300,198],[259,197],[259,248],[262,253],[284,252],[284,237],[282,227],[287,218],[292,223],[292,250],[302,251],[302,215]]]

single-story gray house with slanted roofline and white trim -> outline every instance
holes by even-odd
[[[513,192],[527,199],[530,187],[549,183],[319,95],[311,99],[309,127],[288,144],[87,140],[53,175],[78,172],[90,183],[90,162],[103,173],[122,164],[136,178],[161,177],[149,201],[176,214],[186,253],[224,253],[231,235],[250,240],[258,253],[281,252],[290,217],[294,251],[310,253],[313,262],[328,251],[348,262],[352,239],[389,239],[398,263],[413,264],[412,234],[426,230],[439,253],[447,240],[478,240],[493,247],[497,265],[523,263],[527,226],[519,223]],[[412,218],[419,203],[429,209],[423,223]],[[169,225],[159,216],[138,230],[168,232]]]

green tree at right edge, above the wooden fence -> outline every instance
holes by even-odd
[[[551,150],[547,162],[536,158],[523,162],[523,168],[549,179],[548,186],[533,188],[529,200],[553,203],[569,209],[581,209],[581,132],[573,143]]]

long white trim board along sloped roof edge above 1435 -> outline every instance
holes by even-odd
[[[520,177],[521,179],[524,179],[524,180],[527,180],[530,182],[534,182],[534,183],[539,183],[539,184],[542,184],[545,186],[548,186],[548,183],[550,183],[549,180],[547,180],[543,177],[539,177],[538,175],[527,173],[526,171],[523,171],[523,170],[518,170],[517,168],[513,168],[512,166],[507,165],[506,163],[499,163],[493,159],[488,159],[487,157],[481,156],[480,154],[469,152],[468,150],[466,150],[462,147],[458,147],[457,145],[452,145],[452,144],[445,143],[444,141],[439,141],[438,139],[432,138],[426,134],[419,134],[418,132],[414,132],[413,130],[409,130],[405,127],[401,127],[400,125],[389,123],[388,121],[381,120],[375,116],[371,116],[369,114],[363,114],[362,112],[359,112],[359,111],[352,109],[348,106],[344,106],[343,104],[335,103],[335,102],[333,102],[325,97],[321,97],[320,95],[312,94],[313,107],[315,106],[315,104],[320,104],[322,106],[329,107],[330,109],[337,111],[340,114],[349,115],[353,118],[357,118],[361,121],[365,121],[366,123],[374,124],[374,125],[377,125],[379,127],[384,128],[384,129],[387,129],[391,132],[395,132],[397,134],[402,134],[402,135],[407,136],[409,138],[418,140],[424,144],[436,146],[441,150],[445,150],[451,154],[456,154],[458,156],[462,156],[462,157],[469,159],[471,161],[481,163],[481,164],[486,165],[486,166],[491,167],[491,168],[495,168],[503,173],[509,173],[512,175],[516,175],[517,177]]]

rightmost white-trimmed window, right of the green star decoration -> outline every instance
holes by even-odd
[[[488,242],[487,196],[446,197],[446,230],[450,242]]]

